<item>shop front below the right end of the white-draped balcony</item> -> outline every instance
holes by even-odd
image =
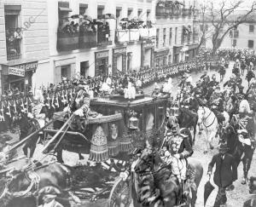
[[[152,67],[154,65],[154,42],[143,41],[142,43],[142,64]]]

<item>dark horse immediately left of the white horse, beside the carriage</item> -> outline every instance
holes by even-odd
[[[178,124],[180,128],[193,129],[193,143],[195,143],[195,134],[196,134],[196,124],[198,120],[197,113],[190,111],[187,108],[179,108],[177,116]]]

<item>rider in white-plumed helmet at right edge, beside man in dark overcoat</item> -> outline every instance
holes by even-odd
[[[247,181],[247,174],[252,163],[256,143],[254,121],[250,113],[248,102],[243,100],[239,106],[239,113],[233,115],[230,122],[236,129],[236,133],[243,137],[242,140],[247,139],[247,142],[241,144],[241,151],[245,152],[245,156],[242,158],[244,173],[244,177],[241,181],[242,184],[245,184]],[[240,162],[240,159],[241,158],[239,158],[238,162]]]

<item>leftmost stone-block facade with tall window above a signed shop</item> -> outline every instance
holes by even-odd
[[[0,1],[1,91],[32,85],[49,58],[46,0]]]

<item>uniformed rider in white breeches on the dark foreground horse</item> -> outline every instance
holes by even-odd
[[[169,152],[165,152],[169,157],[167,158],[167,164],[171,164],[172,174],[177,175],[182,186],[183,198],[186,199],[187,187],[185,185],[185,181],[187,180],[187,158],[192,156],[193,149],[189,141],[189,136],[180,133],[177,118],[171,118],[167,124],[167,129],[166,137],[162,146],[163,148],[166,147],[166,150]]]

